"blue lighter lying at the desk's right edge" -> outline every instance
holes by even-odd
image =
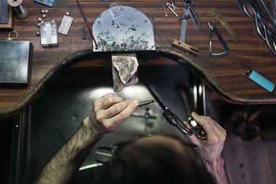
[[[268,92],[272,92],[275,88],[275,84],[268,81],[264,76],[256,72],[255,70],[248,69],[246,70],[246,76],[248,76],[249,79],[254,81],[255,83],[261,85],[264,89],[268,90]]]

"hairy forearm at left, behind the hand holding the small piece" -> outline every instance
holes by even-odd
[[[72,138],[47,163],[37,183],[68,183],[76,174],[91,148],[102,134],[97,128],[88,127],[86,118]]]

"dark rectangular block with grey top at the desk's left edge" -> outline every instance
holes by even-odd
[[[29,41],[0,41],[0,84],[27,85],[31,57]]]

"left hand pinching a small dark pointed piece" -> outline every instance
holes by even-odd
[[[83,123],[100,134],[112,132],[137,109],[137,99],[123,100],[116,94],[108,93],[94,102],[90,116]]]

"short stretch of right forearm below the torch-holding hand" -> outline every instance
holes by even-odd
[[[217,184],[229,184],[229,180],[226,174],[224,158],[219,158],[217,161],[209,163],[204,161],[204,165],[206,166],[208,172],[215,179],[215,183]]]

